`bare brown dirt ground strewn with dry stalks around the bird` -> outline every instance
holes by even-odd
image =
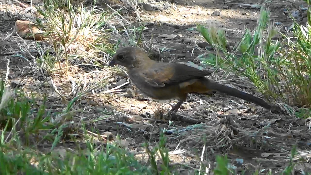
[[[29,4],[26,1],[21,2]],[[134,26],[139,26],[142,22],[146,23],[143,37],[146,41],[152,38],[152,42],[155,43],[153,47],[165,50],[155,56],[156,59],[165,62],[193,61],[200,54],[212,52],[204,49],[205,46],[209,46],[194,29],[196,22],[224,29],[229,45],[233,47],[243,35],[245,28],[253,30],[256,26],[260,14],[258,4],[261,3],[256,0],[152,2],[146,0],[144,2],[150,6],[146,5],[138,9],[136,12],[139,12],[139,17],[130,9],[124,10],[123,14]],[[71,75],[48,76],[44,72],[31,69],[30,66],[33,65],[30,63],[33,63],[33,60],[29,54],[36,54],[35,42],[22,40],[17,36],[11,36],[3,41],[14,29],[15,21],[25,17],[27,13],[11,1],[3,0],[0,3],[2,6],[0,8],[2,24],[0,72],[2,77],[5,77],[7,59],[9,59],[8,78],[11,86],[16,82],[18,84],[22,79],[21,88],[26,92],[38,92],[38,99],[41,97],[39,94],[48,93],[50,95],[48,109],[61,111],[72,97],[70,93],[72,78],[77,81],[87,79],[89,85],[110,73],[110,68],[99,69],[100,71],[95,68],[76,68],[72,69]],[[114,2],[111,6],[117,5],[122,6],[123,2]],[[292,24],[289,17],[283,13],[286,6],[291,12],[299,13],[297,16],[299,22],[306,21],[305,12],[299,8],[300,5],[306,7],[301,0],[270,1],[271,18],[275,24],[280,25],[280,31],[285,31]],[[33,53],[27,53],[25,50],[33,50]],[[221,73],[217,76],[221,77]],[[77,113],[73,120],[79,121],[80,115],[87,111],[88,118],[85,120],[90,121],[88,125],[90,130],[93,127],[101,133],[120,134],[121,138],[127,141],[125,147],[133,153],[144,150],[142,144],[145,141],[149,140],[151,146],[156,145],[160,130],[167,128],[165,136],[167,147],[172,153],[170,154],[172,166],[178,168],[183,163],[188,167],[180,168],[181,174],[192,174],[199,168],[202,151],[204,151],[202,163],[205,166],[208,167],[210,164],[214,167],[215,156],[227,154],[237,172],[246,170],[246,174],[255,169],[260,169],[263,174],[269,169],[279,174],[289,164],[290,150],[295,144],[300,151],[296,157],[297,161],[298,158],[308,158],[310,155],[311,135],[308,122],[303,119],[272,114],[259,106],[247,105],[237,98],[215,93],[212,96],[189,96],[178,112],[179,120],[173,121],[172,126],[169,125],[169,118],[165,118],[161,113],[160,106],[163,102],[147,98],[139,92],[133,97],[132,92],[135,92],[136,88],[130,82],[118,88],[115,93],[101,93],[129,81],[124,73],[114,74],[113,77],[108,86],[100,87],[95,94],[78,100],[77,107],[84,110]],[[60,93],[67,94],[65,98],[67,100],[59,98],[49,83],[51,81],[55,83]],[[244,86],[230,85],[252,93],[251,89],[245,89]],[[255,95],[260,96],[257,93]],[[174,100],[170,102],[176,103]],[[116,110],[114,117],[108,119],[101,117],[107,106]],[[168,108],[169,105],[165,107]],[[179,150],[176,151],[176,147]],[[140,157],[142,154],[137,154],[137,158]],[[300,174],[300,170],[311,172],[310,167],[308,162],[298,163],[297,174]]]

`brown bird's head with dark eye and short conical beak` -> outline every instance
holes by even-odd
[[[108,66],[121,65],[127,69],[139,66],[144,60],[150,60],[148,55],[137,47],[123,47],[113,56]]]

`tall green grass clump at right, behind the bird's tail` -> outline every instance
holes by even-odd
[[[246,29],[232,51],[226,48],[223,30],[197,25],[197,30],[216,50],[216,55],[201,58],[202,64],[232,73],[228,76],[247,77],[268,101],[283,103],[290,113],[294,111],[292,107],[299,108],[296,116],[307,114],[305,117],[308,117],[311,106],[310,23],[302,26],[293,19],[294,37],[289,37],[278,31],[269,16],[269,9],[262,6],[257,27],[254,31]]]

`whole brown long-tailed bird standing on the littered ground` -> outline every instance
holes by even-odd
[[[129,78],[145,95],[168,100],[179,98],[171,111],[177,112],[188,93],[206,94],[212,90],[238,97],[271,110],[271,105],[251,94],[228,87],[204,76],[211,72],[179,63],[162,63],[151,60],[137,47],[123,47],[114,54],[108,66],[116,64],[128,69]]]

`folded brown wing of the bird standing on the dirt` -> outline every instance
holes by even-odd
[[[183,83],[211,74],[209,71],[179,63],[156,63],[148,69],[141,70],[140,73],[153,87]]]

